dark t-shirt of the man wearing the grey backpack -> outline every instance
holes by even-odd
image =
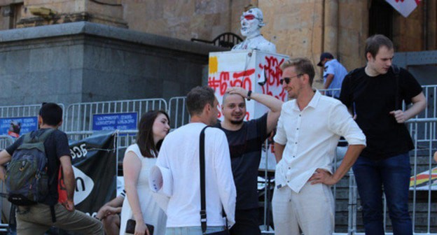
[[[41,134],[47,129],[38,129],[32,133],[32,136],[41,136]],[[18,138],[17,141],[13,143],[13,145],[6,148],[6,152],[10,155],[13,155],[13,152],[22,144],[23,136]],[[47,173],[49,180],[54,177],[53,183],[49,185],[48,197],[43,201],[43,204],[46,205],[55,205],[57,204],[58,194],[57,194],[57,177],[60,169],[60,157],[62,156],[70,156],[70,148],[68,143],[67,134],[60,130],[55,130],[46,138],[44,141],[44,148],[46,149],[46,156],[48,159],[48,167]]]

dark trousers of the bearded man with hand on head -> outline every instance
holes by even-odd
[[[260,235],[258,208],[235,211],[235,225],[230,228],[231,235]]]

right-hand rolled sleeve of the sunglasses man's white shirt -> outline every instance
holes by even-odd
[[[366,145],[366,136],[344,104],[338,103],[331,108],[328,124],[329,129],[335,134],[345,137],[349,145]]]

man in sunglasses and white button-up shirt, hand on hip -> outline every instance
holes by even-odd
[[[309,59],[290,59],[281,66],[280,83],[291,101],[282,106],[275,140],[275,234],[332,234],[335,208],[330,185],[349,171],[366,136],[337,99],[312,90],[314,66]],[[324,118],[321,118],[324,117]],[[340,136],[349,143],[345,159],[333,171]]]

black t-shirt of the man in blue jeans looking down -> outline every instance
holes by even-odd
[[[363,157],[386,159],[414,148],[407,127],[397,123],[390,112],[395,110],[396,97],[399,106],[402,101],[411,104],[412,97],[420,94],[422,87],[405,69],[401,69],[396,86],[391,69],[386,74],[370,77],[364,68],[360,68],[343,80],[340,100],[352,108],[356,123],[366,135],[367,147],[361,152]]]

